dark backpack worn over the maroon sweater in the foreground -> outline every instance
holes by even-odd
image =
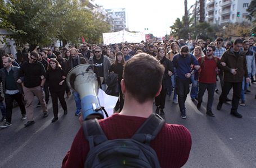
[[[84,167],[160,167],[150,142],[164,124],[158,114],[151,114],[132,138],[109,140],[97,119],[84,121],[84,135],[90,147]]]

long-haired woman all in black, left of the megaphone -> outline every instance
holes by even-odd
[[[60,100],[62,109],[64,110],[64,115],[68,114],[66,101],[64,99],[65,78],[66,74],[64,70],[61,69],[59,62],[56,59],[51,59],[50,65],[48,66],[46,72],[46,80],[49,82],[49,90],[52,96],[52,108],[54,115],[52,123],[58,120],[58,98]]]

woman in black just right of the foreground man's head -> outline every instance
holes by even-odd
[[[155,97],[155,105],[156,105],[155,113],[159,114],[159,110],[160,110],[160,115],[164,115],[164,105],[165,105],[165,97],[167,94],[167,87],[172,85],[170,76],[172,76],[174,71],[172,61],[167,59],[165,55],[166,55],[165,49],[163,47],[160,47],[158,49],[156,59],[158,59],[160,63],[163,64],[165,69],[163,81],[162,81],[162,90],[160,92],[160,95]]]

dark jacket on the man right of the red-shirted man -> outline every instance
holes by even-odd
[[[244,77],[248,77],[245,55],[246,54],[240,50],[239,57],[236,57],[233,48],[223,53],[221,62],[226,63],[226,66],[223,67],[224,82],[242,82]],[[231,68],[237,68],[235,75],[230,72]]]

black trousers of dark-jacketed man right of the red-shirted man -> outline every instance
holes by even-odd
[[[233,97],[232,97],[232,111],[237,111],[239,100],[241,97],[241,90],[242,90],[242,82],[224,82],[223,90],[221,96],[219,96],[219,102],[223,103],[226,102],[226,97],[230,92],[231,88],[233,87]]]

